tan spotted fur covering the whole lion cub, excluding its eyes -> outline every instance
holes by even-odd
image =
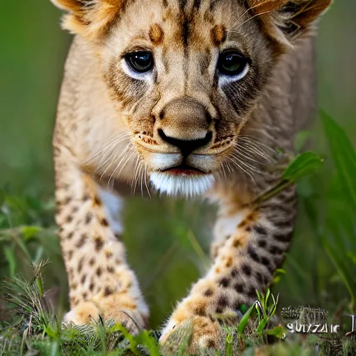
[[[312,35],[330,1],[52,1],[76,33],[54,132],[56,221],[72,307],[65,320],[102,314],[131,332],[147,327],[120,240],[119,188],[205,191],[219,204],[213,263],[161,342],[192,325],[192,352],[223,350],[217,316],[236,323],[238,308],[273,282],[291,242],[296,188],[254,201],[280,181],[286,159],[275,149],[292,154],[296,132],[314,114]],[[217,69],[225,50],[247,58],[240,79]],[[154,60],[143,74],[127,62],[138,51]]]

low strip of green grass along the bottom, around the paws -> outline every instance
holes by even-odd
[[[88,325],[74,326],[60,323],[60,318],[46,292],[42,270],[46,262],[33,266],[33,277],[26,281],[22,275],[3,282],[3,298],[9,304],[10,320],[0,329],[0,355],[186,355],[191,337],[187,323],[168,339],[168,346],[159,346],[159,332],[154,330],[130,335],[122,325],[100,318]],[[330,335],[312,335],[306,339],[288,334],[282,323],[273,318],[277,299],[268,289],[266,296],[248,309],[238,325],[224,326],[224,355],[353,355],[356,345],[350,339]],[[312,311],[310,311],[312,310]],[[306,323],[313,309],[302,308],[300,323]],[[309,319],[308,319],[309,320]],[[13,321],[13,322],[11,322]],[[269,339],[268,339],[269,338]],[[273,344],[271,343],[273,339]],[[173,350],[171,349],[173,347]],[[214,350],[201,350],[200,355],[222,355]]]

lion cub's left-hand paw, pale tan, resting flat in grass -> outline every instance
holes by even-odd
[[[104,321],[114,320],[115,323],[124,326],[130,334],[138,334],[147,326],[148,316],[141,315],[137,309],[120,305],[97,305],[94,302],[81,302],[70,312],[65,314],[63,322],[81,325],[98,321],[102,316]]]

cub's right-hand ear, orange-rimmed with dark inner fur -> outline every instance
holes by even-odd
[[[253,15],[264,30],[280,44],[293,46],[293,40],[313,29],[332,0],[248,0]]]

